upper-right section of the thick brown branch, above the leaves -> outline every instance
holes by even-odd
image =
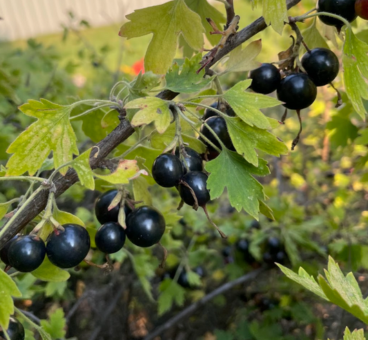
[[[296,6],[302,0],[287,0],[287,9],[289,10],[291,7]],[[222,59],[225,55],[230,53],[234,48],[240,46],[244,41],[251,39],[254,35],[261,32],[267,28],[266,23],[264,22],[263,17],[258,18],[253,21],[250,25],[246,26],[242,30],[240,30],[233,39],[229,39],[226,41],[226,44],[222,50],[219,50],[216,56],[206,64],[206,70],[208,70],[211,66],[216,64],[220,59]]]

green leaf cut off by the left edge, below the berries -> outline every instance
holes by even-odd
[[[6,330],[9,327],[10,315],[14,314],[12,296],[20,297],[21,292],[12,278],[0,269],[0,325]]]

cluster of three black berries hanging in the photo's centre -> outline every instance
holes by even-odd
[[[161,187],[176,187],[187,205],[204,207],[210,200],[202,158],[189,147],[185,147],[181,155],[179,149],[159,155],[153,162],[152,176]]]

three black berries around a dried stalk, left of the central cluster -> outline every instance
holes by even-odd
[[[124,246],[128,237],[131,243],[138,247],[151,247],[162,238],[165,232],[165,219],[154,207],[143,205],[132,209],[128,202],[124,205],[126,229],[118,223],[120,203],[113,209],[108,209],[117,196],[117,190],[103,193],[96,202],[95,213],[101,227],[95,236],[96,246],[101,252],[113,254]]]

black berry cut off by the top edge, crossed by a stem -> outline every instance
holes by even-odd
[[[329,12],[335,15],[340,15],[347,19],[347,21],[354,21],[357,17],[355,11],[356,0],[318,0],[317,11]],[[327,15],[318,16],[320,21],[329,26],[336,26],[338,30],[344,25],[344,23],[336,18],[327,17]]]

